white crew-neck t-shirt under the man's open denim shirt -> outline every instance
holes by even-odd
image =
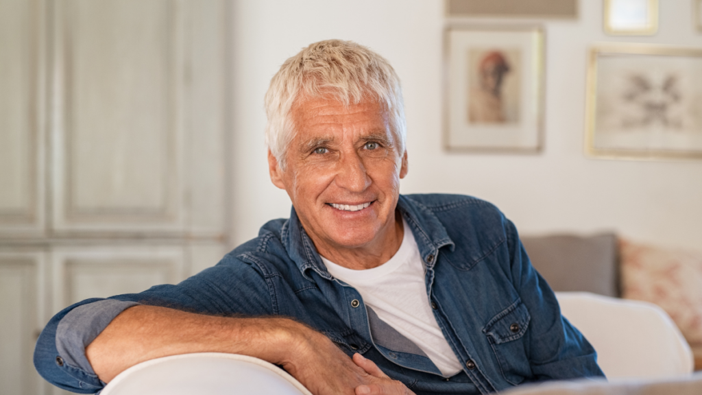
[[[355,287],[378,318],[416,344],[450,377],[462,365],[446,342],[432,313],[424,283],[424,263],[411,229],[403,220],[404,238],[397,253],[376,268],[352,270],[322,257],[329,273]]]

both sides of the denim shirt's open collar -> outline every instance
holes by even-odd
[[[453,240],[449,238],[449,233],[446,232],[444,225],[428,207],[410,197],[400,195],[397,208],[412,229],[420,256],[427,262],[428,268],[434,266],[439,248],[449,246],[453,251],[455,248]],[[282,228],[281,238],[288,256],[295,262],[305,278],[312,280],[307,274],[307,269],[312,269],[322,278],[333,280],[329,271],[326,270],[322,258],[319,257],[312,239],[303,228],[295,207],[290,210],[290,219]]]

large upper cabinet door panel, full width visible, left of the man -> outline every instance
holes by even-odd
[[[57,227],[177,229],[178,3],[60,4]]]

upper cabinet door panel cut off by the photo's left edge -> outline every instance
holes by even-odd
[[[0,231],[39,217],[37,7],[0,0]]]

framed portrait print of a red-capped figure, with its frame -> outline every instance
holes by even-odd
[[[446,148],[541,150],[543,37],[541,27],[446,30]]]

